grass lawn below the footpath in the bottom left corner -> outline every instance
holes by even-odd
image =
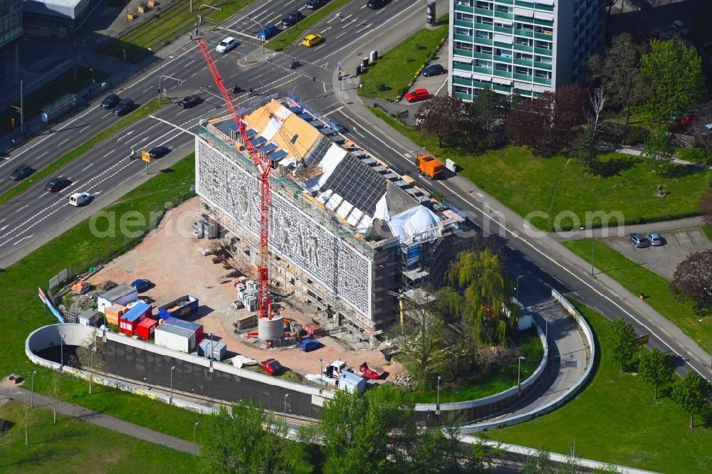
[[[0,449],[4,473],[125,473],[138,466],[147,473],[194,470],[192,454],[60,414],[53,424],[51,410],[34,409],[25,446],[24,407],[19,401],[0,407],[0,418],[13,423]]]

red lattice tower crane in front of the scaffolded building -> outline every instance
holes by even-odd
[[[215,85],[218,86],[218,89],[223,96],[223,100],[225,101],[225,105],[235,120],[235,125],[237,125],[237,130],[240,134],[242,144],[249,152],[252,162],[257,167],[257,171],[260,175],[260,265],[257,268],[257,298],[260,317],[268,317],[271,319],[272,298],[269,295],[269,216],[272,210],[272,190],[269,185],[269,174],[271,164],[262,147],[256,147],[250,141],[250,137],[247,136],[245,122],[237,115],[235,105],[232,102],[232,96],[225,88],[225,84],[223,83],[220,73],[218,72],[215,61],[212,56],[210,56],[207,43],[199,39],[198,46],[201,53],[203,53],[205,63],[208,65],[210,73],[213,75]]]

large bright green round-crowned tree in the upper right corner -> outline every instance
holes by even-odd
[[[705,93],[702,58],[693,46],[675,40],[650,41],[650,52],[640,58],[640,72],[649,97],[640,107],[652,122],[688,115]]]

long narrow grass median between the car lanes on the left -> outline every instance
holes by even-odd
[[[43,181],[43,179],[47,179],[52,174],[57,172],[58,169],[61,169],[62,167],[66,166],[66,164],[85,154],[93,147],[96,147],[97,145],[101,144],[106,139],[112,137],[117,132],[120,132],[129,125],[132,125],[135,122],[141,120],[142,118],[151,115],[153,112],[159,110],[159,108],[161,107],[162,105],[159,105],[158,99],[153,99],[150,102],[147,102],[145,105],[142,105],[137,110],[134,110],[126,117],[123,117],[121,120],[117,121],[111,127],[108,127],[102,132],[99,132],[98,135],[95,135],[95,137],[88,139],[86,142],[80,144],[75,149],[66,152],[61,157],[56,159],[51,164],[48,164],[43,169],[40,169],[37,172],[33,173],[31,177],[23,179],[22,181],[20,181],[19,184],[14,186],[14,188],[5,191],[2,195],[0,195],[0,204],[4,204],[7,201],[10,201],[15,196],[18,196],[19,194],[29,189],[30,186],[33,186],[39,181]]]

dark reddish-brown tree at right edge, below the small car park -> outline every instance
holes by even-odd
[[[697,310],[712,305],[712,248],[691,253],[675,269],[670,283],[680,300],[689,297]]]

